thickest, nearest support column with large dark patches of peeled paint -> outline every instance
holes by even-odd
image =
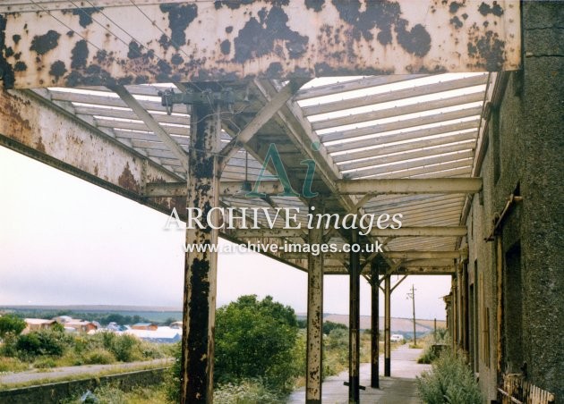
[[[187,208],[200,208],[206,217],[219,206],[217,153],[221,122],[218,107],[192,105],[190,116]],[[212,222],[218,224],[216,215]],[[209,226],[190,229],[187,244],[218,243],[218,230]],[[213,224],[212,223],[212,224]],[[181,403],[210,403],[213,394],[213,330],[216,311],[217,252],[186,252],[184,261],[184,304]]]

